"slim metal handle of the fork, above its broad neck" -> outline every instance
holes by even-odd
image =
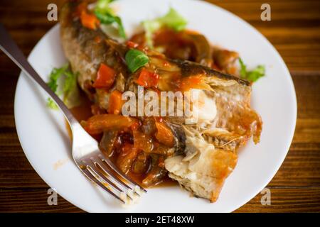
[[[46,84],[46,82],[41,79],[36,70],[29,64],[26,57],[23,55],[23,52],[18,48],[18,45],[14,42],[14,40],[10,37],[9,33],[6,31],[4,26],[0,23],[0,49],[14,62],[18,67],[26,74],[28,77],[31,77],[37,84],[39,84],[55,101],[65,118],[67,118],[70,125],[79,124],[77,119],[71,114],[68,107],[65,106],[63,101],[53,92],[50,87]]]

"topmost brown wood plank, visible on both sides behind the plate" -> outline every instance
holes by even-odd
[[[55,22],[46,20],[46,6],[50,1],[26,2],[4,1],[0,6],[0,21],[16,38],[19,46],[29,52]],[[63,4],[61,0],[55,2],[58,6]],[[255,26],[277,48],[290,70],[320,70],[320,1],[269,1],[272,21],[260,20],[260,6],[265,1],[210,2]],[[13,14],[18,15],[19,19],[12,20]]]

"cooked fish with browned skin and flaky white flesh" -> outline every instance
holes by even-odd
[[[82,26],[79,18],[74,16],[80,2],[70,1],[61,11],[63,50],[72,70],[78,72],[81,89],[101,109],[107,109],[112,90],[137,89],[134,83],[137,73],[129,73],[124,60],[129,50],[127,45],[112,40],[99,28],[92,30]],[[185,124],[184,118],[166,118],[176,139],[175,151],[168,152],[164,167],[155,165],[149,170],[151,175],[145,182],[154,180],[150,176],[163,177],[169,172],[169,177],[194,195],[216,201],[226,177],[235,168],[238,148],[245,145],[250,137],[255,143],[260,139],[262,121],[250,107],[251,84],[193,62],[167,59],[153,50],[144,49],[144,52],[149,57],[145,68],[159,74],[157,89],[193,89],[202,102],[197,106],[197,123]],[[109,91],[92,87],[101,63],[117,72],[116,81]],[[198,78],[198,83],[188,87],[188,83],[187,86],[181,83],[185,78]],[[105,138],[110,138],[110,132],[107,133]]]

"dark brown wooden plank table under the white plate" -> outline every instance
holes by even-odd
[[[46,19],[52,0],[2,0],[0,22],[28,55],[55,24]],[[63,1],[55,1],[60,7]],[[277,48],[294,80],[298,99],[297,128],[291,148],[262,194],[236,212],[320,211],[320,1],[267,1],[272,21],[260,20],[265,1],[210,0],[255,26]],[[214,29],[214,28],[213,28]],[[250,45],[250,43],[248,43]],[[0,211],[79,212],[58,197],[48,206],[48,185],[33,170],[21,149],[14,123],[14,92],[20,70],[0,52]]]

